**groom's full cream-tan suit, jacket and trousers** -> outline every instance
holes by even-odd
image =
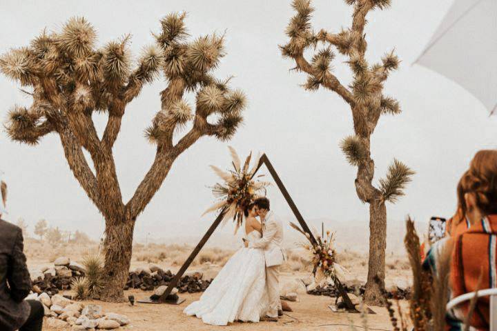
[[[251,241],[250,248],[262,248],[266,259],[266,283],[269,294],[269,317],[277,317],[280,303],[280,265],[286,261],[286,255],[282,249],[283,227],[280,219],[273,212],[268,212],[262,223],[262,238]]]

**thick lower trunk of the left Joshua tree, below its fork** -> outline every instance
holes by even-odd
[[[123,300],[122,289],[128,280],[135,221],[124,219],[106,223],[104,241],[104,283],[106,286],[101,292],[101,299],[116,302]]]

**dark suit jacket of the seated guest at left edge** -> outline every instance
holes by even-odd
[[[23,248],[21,229],[0,219],[0,330],[19,329],[30,314],[24,298],[31,279]]]

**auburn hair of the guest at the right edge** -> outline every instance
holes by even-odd
[[[497,150],[476,153],[469,170],[462,175],[458,191],[464,213],[468,212],[465,194],[471,194],[482,214],[497,214]]]

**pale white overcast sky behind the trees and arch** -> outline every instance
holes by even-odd
[[[43,5],[41,4],[43,3]],[[433,214],[451,216],[456,205],[456,183],[469,160],[481,148],[495,147],[496,117],[469,92],[436,72],[412,65],[445,15],[451,0],[394,0],[393,7],[369,15],[367,57],[378,61],[396,48],[400,70],[387,81],[386,91],[396,97],[403,112],[380,119],[372,137],[376,183],[394,157],[407,163],[416,176],[407,195],[389,204],[390,224],[411,214],[426,221]],[[351,8],[342,0],[315,0],[313,26],[337,31],[351,22]],[[289,71],[293,63],[283,59],[278,44],[286,42],[284,28],[293,15],[290,1],[2,1],[0,50],[24,46],[43,28],[57,30],[71,16],[86,17],[98,31],[99,44],[133,35],[133,54],[153,42],[159,19],[169,12],[188,12],[186,23],[193,37],[226,31],[227,55],[217,77],[235,76],[233,87],[248,96],[244,127],[229,144],[242,155],[250,150],[266,152],[293,199],[307,219],[326,218],[354,224],[369,217],[367,205],[355,194],[355,168],[340,151],[340,140],[353,133],[351,112],[328,90],[306,92],[305,77]],[[463,41],[461,41],[463,42]],[[447,54],[450,56],[450,54]],[[343,59],[335,72],[348,83]],[[114,148],[121,190],[128,201],[153,161],[155,147],[144,138],[144,129],[159,110],[159,91],[164,79],[146,86],[131,103]],[[1,117],[18,103],[30,100],[5,77],[0,77]],[[98,127],[104,121],[97,119]],[[212,216],[200,218],[213,196],[208,189],[217,181],[208,168],[229,165],[226,143],[203,138],[173,165],[161,190],[139,217],[137,237],[197,236],[208,228]],[[54,134],[33,148],[0,134],[0,169],[10,188],[6,219],[34,223],[45,218],[67,230],[84,230],[98,237],[104,221],[72,177]],[[282,196],[269,191],[273,209],[291,215]],[[226,230],[227,229],[227,230]],[[231,228],[224,228],[225,232]],[[364,228],[364,232],[367,228]]]

